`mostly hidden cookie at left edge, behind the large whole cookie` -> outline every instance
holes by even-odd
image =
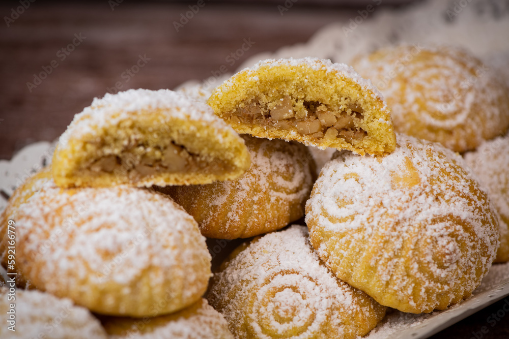
[[[16,244],[15,236],[14,239],[8,238],[9,221],[12,221],[11,223],[13,223],[11,225],[11,234],[15,235],[17,222],[16,213],[18,209],[26,202],[26,200],[28,200],[31,196],[33,196],[36,192],[45,186],[54,186],[49,167],[44,167],[39,172],[26,179],[25,182],[23,182],[23,184],[14,191],[12,196],[9,198],[9,201],[7,202],[6,208],[2,213],[0,213],[0,260],[4,268],[6,268],[8,271],[16,272],[16,285],[23,288],[30,288],[30,284],[25,280],[25,277],[19,270],[19,267],[15,267],[14,270],[8,269],[9,246]]]

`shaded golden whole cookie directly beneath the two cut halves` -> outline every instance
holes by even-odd
[[[211,238],[247,238],[287,226],[304,215],[315,164],[297,142],[242,135],[251,167],[240,178],[162,189]]]

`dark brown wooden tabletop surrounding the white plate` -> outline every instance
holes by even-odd
[[[116,84],[122,90],[174,88],[218,71],[233,72],[249,56],[306,42],[319,28],[355,13],[296,6],[281,16],[276,4],[205,4],[178,32],[174,21],[189,10],[187,5],[122,2],[112,10],[107,1],[89,6],[36,2],[9,27],[2,23],[0,159],[10,159],[26,144],[54,140],[74,114]],[[0,7],[0,13],[10,16],[11,8]],[[232,64],[227,58],[244,39],[251,46]],[[143,67],[134,72],[138,62]],[[40,84],[34,75],[44,77]],[[433,338],[509,338],[506,301],[509,298]],[[504,312],[505,318],[491,327],[487,318],[497,312]],[[488,333],[481,332],[483,326]]]

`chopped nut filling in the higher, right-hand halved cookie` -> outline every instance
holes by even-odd
[[[346,101],[346,100],[345,100]],[[260,103],[254,99],[230,113],[234,123],[270,126],[281,130],[296,129],[300,135],[316,139],[341,137],[352,143],[361,141],[367,133],[359,127],[364,110],[357,103],[330,107],[318,101],[295,101],[290,96],[278,102]]]

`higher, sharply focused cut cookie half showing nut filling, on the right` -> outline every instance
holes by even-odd
[[[207,103],[239,133],[359,154],[395,147],[379,91],[351,67],[329,60],[260,61],[223,82]]]

